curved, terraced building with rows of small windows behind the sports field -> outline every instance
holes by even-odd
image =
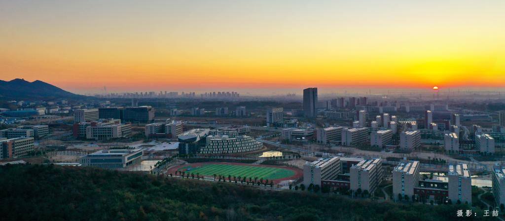
[[[202,154],[243,153],[260,150],[263,143],[249,136],[229,137],[227,135],[210,135],[205,147],[201,147]]]

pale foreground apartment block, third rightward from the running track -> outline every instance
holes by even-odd
[[[393,169],[393,197],[398,200],[405,195],[412,197],[414,188],[419,186],[419,161],[400,162]]]

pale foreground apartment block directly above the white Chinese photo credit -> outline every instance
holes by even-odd
[[[453,203],[459,200],[461,203],[472,204],[472,178],[468,165],[466,163],[449,164],[447,178],[449,180],[449,199]]]

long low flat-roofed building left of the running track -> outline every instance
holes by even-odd
[[[142,161],[142,149],[98,150],[80,157],[84,167],[121,169]]]

